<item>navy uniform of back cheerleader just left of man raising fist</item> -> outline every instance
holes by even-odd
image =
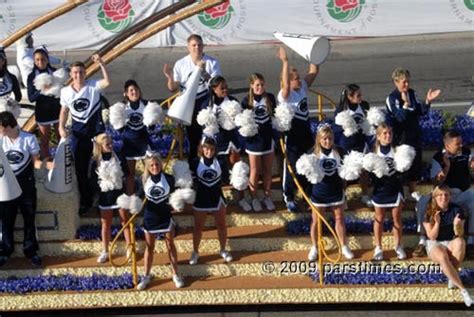
[[[43,73],[52,75],[55,70],[56,68],[50,65],[44,70],[40,70],[35,66],[27,79],[28,99],[31,102],[36,102],[35,119],[39,125],[51,125],[59,122],[59,113],[61,111],[59,98],[43,95],[36,89],[34,84],[36,76]]]

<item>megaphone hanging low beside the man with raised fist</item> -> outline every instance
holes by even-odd
[[[72,190],[72,151],[68,139],[61,139],[54,155],[54,168],[48,171],[44,187],[53,193]]]

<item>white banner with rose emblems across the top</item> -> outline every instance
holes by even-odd
[[[0,36],[65,1],[0,0]],[[176,0],[92,0],[34,31],[52,50],[92,49]],[[34,5],[32,4],[34,3]],[[272,41],[274,31],[331,37],[473,31],[474,0],[230,0],[165,30],[140,47]]]

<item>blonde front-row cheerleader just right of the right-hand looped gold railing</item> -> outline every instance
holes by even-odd
[[[336,222],[336,233],[342,245],[342,254],[346,259],[354,258],[354,254],[347,246],[346,227],[344,224],[344,182],[339,176],[338,169],[341,159],[338,151],[334,148],[334,133],[329,125],[323,124],[316,134],[314,154],[318,159],[322,179],[312,185],[311,202],[318,208],[321,214],[326,210],[334,211]],[[298,163],[297,163],[298,165]],[[317,215],[313,213],[311,222],[311,242],[313,246],[308,254],[310,261],[315,261],[318,256],[317,250]]]

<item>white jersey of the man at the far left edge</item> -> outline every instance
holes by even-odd
[[[18,138],[0,138],[3,152],[15,175],[23,172],[32,160],[33,155],[39,154],[39,145],[33,134],[20,131]]]

